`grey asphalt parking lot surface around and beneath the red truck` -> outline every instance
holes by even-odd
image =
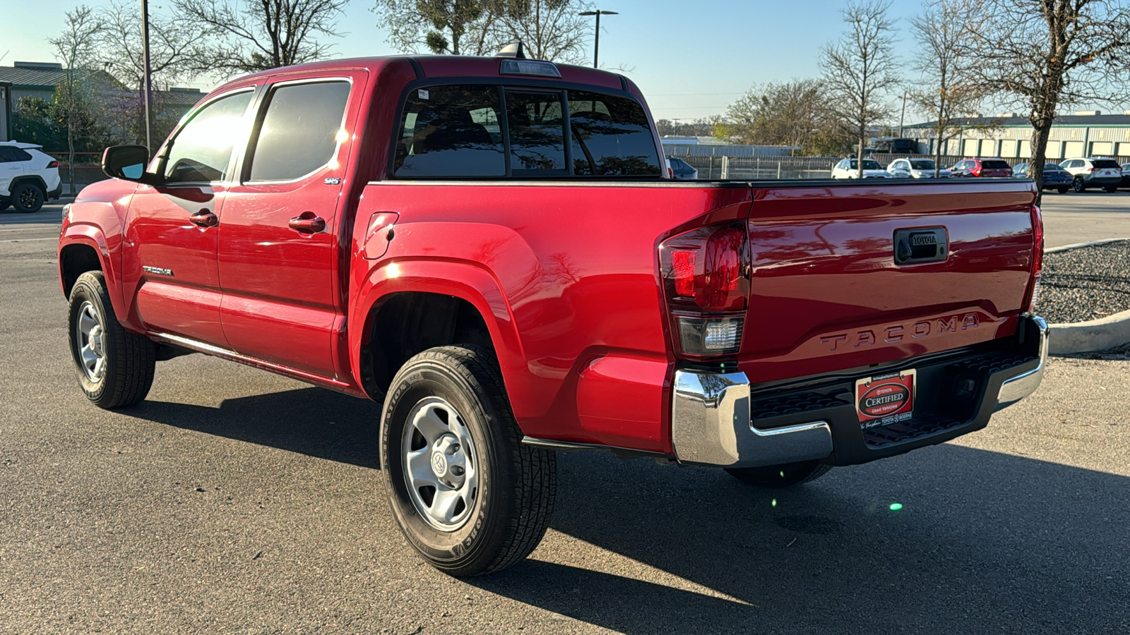
[[[1127,197],[1046,195],[1049,244],[1130,236]],[[793,490],[563,454],[532,558],[454,580],[392,520],[375,405],[193,355],[89,406],[58,212],[0,215],[0,633],[1130,632],[1128,355]]]

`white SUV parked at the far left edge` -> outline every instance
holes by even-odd
[[[43,146],[0,141],[0,210],[40,211],[47,199],[58,199],[63,184],[59,162],[40,151]]]

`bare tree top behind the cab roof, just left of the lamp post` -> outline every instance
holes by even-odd
[[[521,41],[536,60],[584,63],[588,23],[577,14],[588,6],[581,0],[494,0],[490,9],[498,41]]]

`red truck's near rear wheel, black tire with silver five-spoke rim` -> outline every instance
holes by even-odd
[[[393,515],[428,564],[481,575],[533,551],[553,514],[557,456],[522,445],[488,350],[445,346],[412,357],[392,380],[381,419]]]

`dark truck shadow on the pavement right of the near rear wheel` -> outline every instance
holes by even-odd
[[[792,490],[560,463],[574,545],[468,582],[631,634],[1130,632],[1130,478],[951,444]]]

